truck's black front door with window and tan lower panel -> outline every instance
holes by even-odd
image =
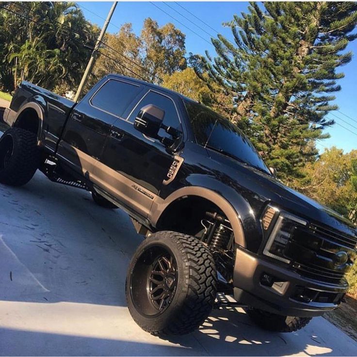
[[[164,110],[163,124],[182,132],[174,100],[165,93],[149,90],[128,110],[127,120],[115,121],[103,151],[103,165],[96,168],[105,190],[144,217],[174,161],[174,155],[159,140],[147,138],[133,126],[140,109],[148,104]],[[159,134],[171,138],[162,129]]]

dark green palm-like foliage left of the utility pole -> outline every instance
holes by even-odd
[[[74,2],[5,2],[0,9],[0,85],[11,92],[21,80],[49,90],[77,83],[98,29]],[[88,47],[89,48],[88,48]]]

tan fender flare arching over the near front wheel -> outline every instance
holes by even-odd
[[[165,209],[174,201],[185,196],[198,196],[207,199],[216,204],[229,219],[234,233],[234,241],[239,246],[245,248],[245,236],[243,231],[242,220],[239,213],[233,206],[217,192],[200,186],[186,186],[179,188],[177,191],[170,194],[166,199],[162,200],[157,197],[153,202],[150,210],[149,220],[155,227]]]

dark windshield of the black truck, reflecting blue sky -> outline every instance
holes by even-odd
[[[237,126],[201,104],[183,99],[197,143],[271,175],[257,150]]]

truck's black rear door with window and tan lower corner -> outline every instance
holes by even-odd
[[[90,177],[112,125],[143,88],[124,79],[105,78],[73,109],[57,154]]]

